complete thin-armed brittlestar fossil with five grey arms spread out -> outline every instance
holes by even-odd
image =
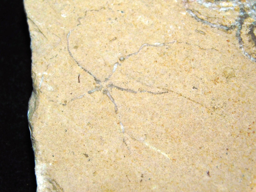
[[[113,83],[108,83],[109,81],[109,78],[112,76],[112,74],[116,71],[118,65],[121,65],[119,62],[116,62],[114,64],[114,67],[113,67],[113,70],[112,72],[105,78],[104,81],[100,80],[98,77],[96,77],[91,71],[89,71],[88,69],[86,69],[85,67],[83,67],[77,60],[76,58],[74,58],[74,56],[72,55],[71,51],[70,51],[70,47],[69,47],[69,36],[71,34],[72,31],[70,31],[68,34],[67,34],[67,50],[68,50],[68,53],[70,55],[70,57],[75,61],[75,63],[81,68],[83,69],[85,72],[87,72],[89,75],[91,75],[95,81],[95,83],[97,84],[97,86],[93,89],[93,90],[90,90],[88,91],[88,94],[92,94],[96,91],[102,91],[102,93],[104,95],[106,95],[108,97],[108,99],[114,104],[115,106],[115,113],[118,112],[118,106],[115,102],[115,99],[113,98],[113,96],[110,94],[108,88],[116,88],[116,89],[119,89],[121,91],[126,91],[126,92],[129,92],[129,93],[133,93],[133,94],[136,94],[137,92],[140,92],[140,93],[149,93],[149,94],[153,94],[153,95],[160,95],[160,94],[164,94],[164,93],[168,93],[168,91],[163,91],[163,92],[152,92],[152,91],[147,91],[147,90],[138,90],[138,91],[135,91],[135,90],[131,90],[131,89],[126,89],[126,88],[122,88],[122,87],[118,87],[116,85],[114,85]],[[128,54],[124,57],[120,57],[118,60],[120,62],[128,59],[129,57],[131,57],[132,55],[137,55],[142,49],[143,47],[146,47],[146,46],[153,46],[153,47],[159,47],[159,46],[164,46],[164,45],[167,45],[167,44],[172,44],[176,41],[172,41],[172,42],[164,42],[164,43],[155,43],[155,44],[148,44],[148,43],[143,43],[137,52],[135,53],[131,53],[131,54]]]

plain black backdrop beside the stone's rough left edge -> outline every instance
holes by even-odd
[[[22,0],[0,5],[0,191],[36,191],[28,128],[30,37]]]

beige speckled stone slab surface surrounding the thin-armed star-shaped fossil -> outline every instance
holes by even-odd
[[[24,1],[37,191],[255,190],[256,63],[196,3]]]

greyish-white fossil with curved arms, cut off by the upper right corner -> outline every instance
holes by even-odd
[[[190,1],[189,1],[190,2]],[[185,4],[198,22],[224,31],[236,29],[243,54],[256,62],[256,3],[250,0],[196,0]]]

